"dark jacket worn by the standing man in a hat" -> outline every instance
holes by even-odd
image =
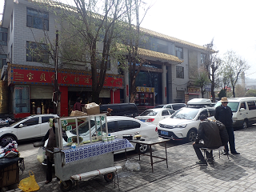
[[[223,106],[217,106],[215,109],[214,118],[222,122],[226,127],[233,126],[232,116],[233,113],[229,106],[226,106],[226,109]]]

